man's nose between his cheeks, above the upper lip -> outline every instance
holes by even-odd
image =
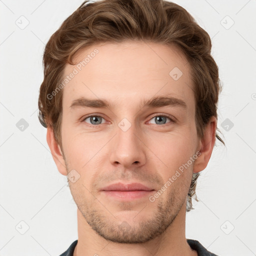
[[[116,127],[116,135],[111,139],[110,145],[111,164],[121,164],[124,168],[129,168],[132,165],[136,167],[144,165],[146,159],[146,146],[142,134],[134,123],[130,124],[127,130],[123,129],[121,125]],[[128,124],[125,123],[125,125]]]

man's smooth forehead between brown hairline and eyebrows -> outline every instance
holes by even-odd
[[[194,105],[189,63],[173,45],[101,43],[79,50],[73,60],[75,65],[66,64],[64,69],[63,79],[69,78],[63,104],[81,96],[131,104],[141,97],[173,94],[188,107]]]

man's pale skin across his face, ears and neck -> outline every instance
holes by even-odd
[[[63,88],[62,150],[47,128],[58,171],[67,175],[74,169],[80,175],[75,182],[68,179],[77,205],[73,255],[195,256],[185,237],[186,195],[192,174],[207,166],[217,120],[212,116],[203,139],[197,137],[189,63],[174,46],[138,41],[97,44],[79,51],[76,63],[95,48],[99,52]],[[169,75],[175,66],[183,73],[177,80]],[[64,76],[73,67],[67,64]],[[167,94],[187,107],[141,105],[144,99]],[[103,98],[113,105],[71,108],[80,97]],[[101,118],[93,121],[88,114]],[[126,131],[118,126],[123,118],[130,123]],[[117,181],[139,182],[154,194],[197,151],[200,155],[153,202],[148,196],[116,200],[101,191]],[[123,223],[126,229],[120,228]]]

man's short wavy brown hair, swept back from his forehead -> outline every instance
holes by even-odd
[[[191,68],[195,96],[195,124],[199,138],[209,118],[217,118],[218,94],[222,89],[218,66],[211,56],[211,40],[181,6],[166,0],[83,1],[49,38],[43,53],[44,78],[39,90],[38,118],[50,126],[61,147],[62,91],[51,95],[63,79],[66,63],[78,50],[100,42],[140,40],[177,46]],[[216,128],[218,131],[219,129]],[[223,144],[224,141],[215,133]],[[62,149],[62,147],[61,147]],[[186,211],[192,208],[198,173],[193,173]],[[195,195],[195,200],[198,201]]]

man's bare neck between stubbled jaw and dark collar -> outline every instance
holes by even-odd
[[[78,241],[73,256],[197,256],[197,252],[190,248],[185,237],[185,207],[184,203],[162,234],[147,242],[133,244],[112,242],[98,235],[77,208]]]

